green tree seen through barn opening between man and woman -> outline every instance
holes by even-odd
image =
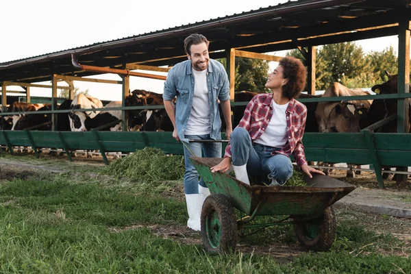
[[[227,68],[225,58],[219,62]],[[267,92],[265,83],[269,73],[269,62],[265,60],[236,57],[236,79],[234,90],[248,90],[253,92]]]

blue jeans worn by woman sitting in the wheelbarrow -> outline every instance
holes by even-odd
[[[243,127],[236,127],[230,137],[232,163],[234,166],[247,164],[247,173],[253,177],[276,179],[278,184],[292,176],[292,163],[288,156],[271,155],[277,147],[269,147],[251,142],[250,134]]]

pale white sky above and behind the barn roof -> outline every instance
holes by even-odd
[[[285,0],[2,1],[3,12],[0,16],[0,25],[3,39],[0,43],[0,63],[207,21],[219,16],[258,10],[285,2]],[[395,51],[398,48],[397,36],[359,40],[356,43],[364,49],[364,52],[382,51],[390,46],[393,46]],[[286,51],[279,51],[269,54],[284,56],[285,53]],[[275,65],[273,62],[271,67]],[[93,77],[120,79],[118,75]],[[50,84],[50,82],[42,84]],[[102,100],[121,100],[121,85],[76,81],[75,86],[81,91],[88,89],[90,95]],[[138,88],[162,93],[163,86],[162,80],[130,77],[131,90]],[[10,87],[10,90],[23,89]],[[51,96],[51,89],[31,88],[30,91],[32,96]]]

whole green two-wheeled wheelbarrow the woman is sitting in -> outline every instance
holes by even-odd
[[[332,177],[304,176],[308,186],[249,186],[210,168],[222,158],[190,158],[210,189],[201,209],[203,247],[211,254],[236,249],[238,234],[249,229],[292,224],[301,245],[311,251],[327,251],[336,238],[332,204],[356,187]],[[237,219],[234,208],[240,211]],[[242,217],[242,214],[245,214]],[[287,216],[271,223],[250,223],[256,216]]]

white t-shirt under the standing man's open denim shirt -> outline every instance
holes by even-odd
[[[190,118],[184,134],[203,135],[211,133],[210,101],[208,100],[207,70],[192,70],[194,76],[194,98],[192,99]]]

